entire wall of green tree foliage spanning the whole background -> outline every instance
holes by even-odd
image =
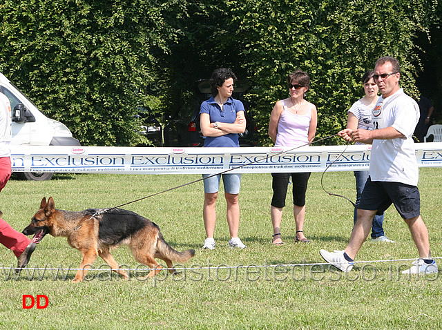
[[[334,135],[378,57],[397,57],[402,87],[417,93],[416,37],[439,31],[441,12],[436,0],[3,2],[0,69],[82,144],[97,145],[135,144],[137,106],[175,112],[193,81],[227,66],[254,86],[263,144],[295,68],[311,76],[317,137]]]

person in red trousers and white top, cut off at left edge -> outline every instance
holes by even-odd
[[[10,144],[11,141],[11,106],[6,95],[0,93],[0,191],[6,186],[11,176]],[[0,211],[0,217],[3,215]],[[21,271],[30,260],[37,244],[12,229],[10,224],[0,218],[0,243],[6,246],[17,257],[17,273]]]

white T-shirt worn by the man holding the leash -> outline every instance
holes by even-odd
[[[417,186],[419,167],[412,135],[419,116],[416,101],[403,93],[402,88],[386,99],[379,97],[372,110],[373,129],[392,126],[404,137],[373,140],[370,159],[372,181],[401,182]]]

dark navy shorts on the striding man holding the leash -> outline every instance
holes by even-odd
[[[411,219],[421,214],[421,196],[416,186],[400,182],[372,181],[367,179],[358,208],[377,210],[377,215],[394,204],[403,219]]]

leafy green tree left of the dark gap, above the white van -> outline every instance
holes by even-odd
[[[137,142],[137,106],[173,31],[153,1],[6,0],[0,68],[82,144]],[[149,97],[150,96],[150,97]]]

